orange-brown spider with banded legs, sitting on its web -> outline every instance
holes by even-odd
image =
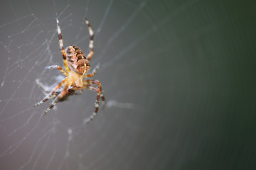
[[[57,23],[60,50],[63,56],[63,62],[64,62],[66,71],[58,65],[48,66],[46,67],[46,69],[60,70],[60,72],[62,72],[65,75],[65,79],[60,81],[60,83],[57,84],[51,91],[46,89],[46,87],[43,86],[37,79],[36,83],[43,89],[46,96],[43,98],[43,100],[36,103],[35,106],[39,106],[42,103],[48,101],[49,98],[53,98],[52,103],[50,103],[50,106],[46,109],[45,113],[43,114],[43,115],[46,115],[46,113],[48,113],[48,111],[50,111],[50,109],[53,108],[56,103],[58,103],[59,101],[65,101],[70,95],[82,94],[83,89],[96,91],[97,98],[95,101],[95,111],[86,120],[86,123],[89,123],[93,118],[95,118],[95,115],[99,110],[100,98],[102,99],[102,106],[104,106],[104,103],[105,103],[105,96],[103,94],[102,85],[100,84],[100,81],[94,80],[94,79],[84,79],[87,77],[93,77],[96,74],[97,70],[99,69],[99,64],[97,64],[97,66],[95,67],[95,69],[93,69],[91,74],[86,74],[90,69],[89,61],[92,58],[92,55],[94,52],[93,50],[94,33],[92,31],[89,21],[87,20],[87,18],[85,18],[85,23],[88,26],[89,34],[90,34],[90,44],[89,44],[90,52],[88,53],[87,56],[85,56],[82,50],[80,50],[79,47],[74,45],[68,46],[64,50],[63,38],[60,31],[60,23],[58,21],[58,18],[56,18],[56,23]],[[75,91],[79,91],[79,93],[75,93]]]

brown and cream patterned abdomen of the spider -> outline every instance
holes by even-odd
[[[90,69],[89,61],[85,54],[77,46],[68,46],[65,50],[67,54],[68,67],[76,74],[83,75]]]

